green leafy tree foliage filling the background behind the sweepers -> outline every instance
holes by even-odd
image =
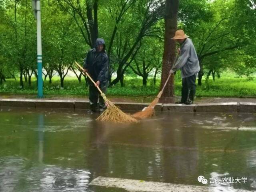
[[[95,2],[98,2],[97,12]],[[83,79],[81,73],[72,68],[73,62],[82,64],[97,31],[106,41],[112,75],[119,79],[122,73],[125,77],[141,76],[144,84],[149,78],[148,85],[153,86],[150,79],[160,73],[162,63],[164,2],[41,1],[44,75],[51,79],[58,74],[64,89],[69,86],[69,80],[64,85],[69,70],[76,72],[78,80]],[[92,18],[88,18],[90,13]],[[178,12],[178,28],[184,29],[192,38],[205,76],[208,72],[218,72],[221,78],[221,72],[226,70],[236,72],[239,77],[253,78],[256,71],[255,20],[254,0],[181,0]],[[18,86],[27,89],[22,81],[30,81],[36,73],[36,20],[31,1],[0,0],[0,82],[6,78],[19,78],[21,74],[24,78],[20,78]],[[210,81],[206,81],[206,87],[214,88]],[[136,82],[142,85],[142,80]],[[132,81],[125,81],[127,88],[132,86],[130,83]],[[33,87],[32,82],[29,89],[33,90]],[[177,86],[176,92],[179,92]]]

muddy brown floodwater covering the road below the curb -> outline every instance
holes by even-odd
[[[0,108],[0,192],[125,191],[89,186],[98,176],[198,186],[204,176],[216,191],[256,190],[256,114],[159,112],[137,124],[97,116]]]

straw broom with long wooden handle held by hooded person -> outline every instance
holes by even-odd
[[[80,70],[84,70],[82,66],[80,66],[77,62],[75,64],[80,68]],[[94,82],[94,80],[90,77],[90,75],[85,72],[85,74],[88,76],[88,78],[92,81],[92,83],[96,86],[98,91],[100,92],[100,95],[104,99],[107,108],[104,110],[102,114],[96,119],[99,121],[108,121],[108,122],[114,122],[114,123],[125,123],[125,122],[138,122],[135,118],[133,118],[131,115],[126,114],[120,110],[117,106],[115,106],[108,98],[106,95],[100,90],[99,86]]]

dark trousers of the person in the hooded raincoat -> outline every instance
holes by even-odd
[[[107,91],[107,83],[100,84],[100,89],[105,94]],[[89,86],[89,102],[90,102],[90,109],[96,110],[99,100],[99,107],[100,108],[106,108],[104,99],[100,95],[100,92],[94,85]]]

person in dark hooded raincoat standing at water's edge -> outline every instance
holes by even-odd
[[[105,51],[105,41],[101,38],[96,39],[95,48],[90,49],[84,59],[84,73],[92,77],[96,82],[96,85],[106,93],[108,86],[108,55]],[[94,84],[89,82],[89,102],[90,110],[88,112],[93,113],[98,110],[103,112],[106,109],[106,105],[102,96],[98,93],[98,90]],[[98,104],[99,100],[99,104]]]

